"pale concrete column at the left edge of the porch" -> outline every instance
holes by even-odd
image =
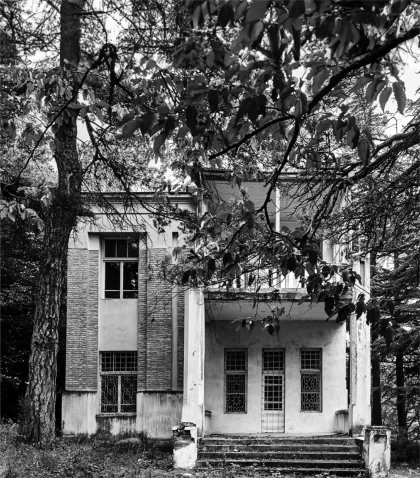
[[[204,294],[201,289],[185,292],[184,390],[182,423],[192,423],[198,435],[204,427]]]

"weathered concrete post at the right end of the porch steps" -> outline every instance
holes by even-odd
[[[391,467],[391,430],[366,427],[363,458],[370,478],[388,478]]]

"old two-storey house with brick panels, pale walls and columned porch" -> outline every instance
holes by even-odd
[[[209,174],[220,197],[239,196],[223,174]],[[261,182],[244,182],[258,205]],[[144,201],[151,201],[147,194]],[[118,194],[108,195],[116,209]],[[203,205],[174,195],[190,211]],[[286,197],[272,204],[275,227],[298,225]],[[290,274],[259,291],[280,288],[280,334],[258,325],[237,331],[239,316],[254,316],[252,294],[237,284],[222,289],[172,288],[157,273],[178,246],[178,224],[164,233],[115,227],[92,205],[95,221],[80,224],[69,244],[64,434],[147,432],[165,438],[181,422],[199,434],[359,432],[370,424],[370,328],[353,315],[326,322],[324,304],[298,300],[305,291]],[[146,218],[138,205],[133,218]],[[141,221],[137,221],[140,224]],[[136,230],[137,229],[137,230]],[[327,262],[343,262],[341,249],[321,245]],[[369,289],[369,264],[355,261]],[[270,289],[271,288],[271,289]],[[357,295],[360,290],[353,291]],[[265,295],[264,295],[265,294]],[[258,314],[270,313],[264,300]],[[346,351],[349,350],[349,353]]]

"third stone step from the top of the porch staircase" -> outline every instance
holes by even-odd
[[[233,459],[259,459],[265,460],[270,458],[275,458],[278,460],[291,460],[291,459],[299,459],[299,460],[346,460],[346,461],[360,461],[360,453],[358,452],[326,452],[326,451],[278,451],[278,450],[270,450],[270,451],[226,451],[221,453],[220,451],[199,451],[198,456],[200,459],[219,459],[219,460],[230,460]]]

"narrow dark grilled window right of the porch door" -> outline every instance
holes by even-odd
[[[322,354],[320,349],[301,349],[301,410],[321,412]]]

